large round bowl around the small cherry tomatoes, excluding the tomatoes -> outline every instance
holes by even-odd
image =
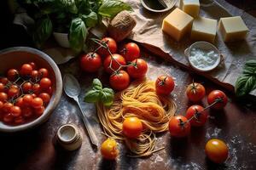
[[[13,133],[36,127],[39,124],[46,122],[61,99],[61,71],[49,55],[44,54],[38,49],[27,47],[6,48],[0,51],[0,73],[5,73],[9,68],[18,68],[20,65],[28,62],[34,62],[38,67],[44,67],[49,71],[49,78],[53,84],[53,94],[49,101],[49,105],[45,108],[44,114],[32,122],[26,122],[25,124],[18,126],[11,126],[0,122],[0,132]]]

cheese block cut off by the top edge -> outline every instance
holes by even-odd
[[[196,18],[199,14],[200,3],[199,0],[180,0],[179,8],[185,13]]]

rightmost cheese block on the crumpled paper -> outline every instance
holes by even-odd
[[[248,28],[241,20],[241,16],[221,18],[218,23],[218,31],[224,42],[234,42],[247,36]]]

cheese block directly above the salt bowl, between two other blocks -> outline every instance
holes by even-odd
[[[217,20],[198,17],[193,21],[191,38],[199,41],[214,42]]]

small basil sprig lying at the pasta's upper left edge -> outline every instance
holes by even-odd
[[[92,88],[85,94],[84,101],[87,103],[102,102],[103,105],[113,104],[114,92],[112,88],[102,88],[102,82],[95,78],[92,82]]]

